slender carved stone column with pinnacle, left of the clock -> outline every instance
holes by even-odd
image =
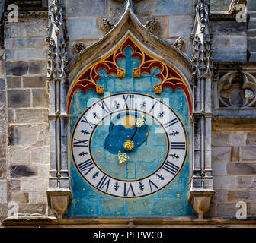
[[[47,199],[58,218],[71,203],[68,170],[65,67],[67,63],[66,20],[59,0],[49,2],[49,61],[47,77],[50,95],[50,178]]]

